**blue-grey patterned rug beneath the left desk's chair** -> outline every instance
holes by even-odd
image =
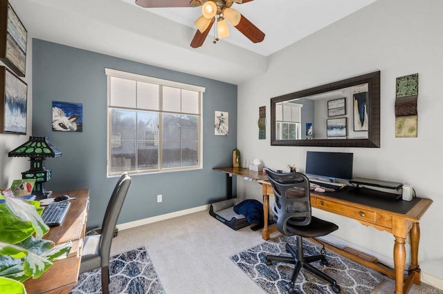
[[[109,261],[110,293],[165,293],[145,248],[115,255]],[[100,268],[82,273],[71,294],[102,293]]]

